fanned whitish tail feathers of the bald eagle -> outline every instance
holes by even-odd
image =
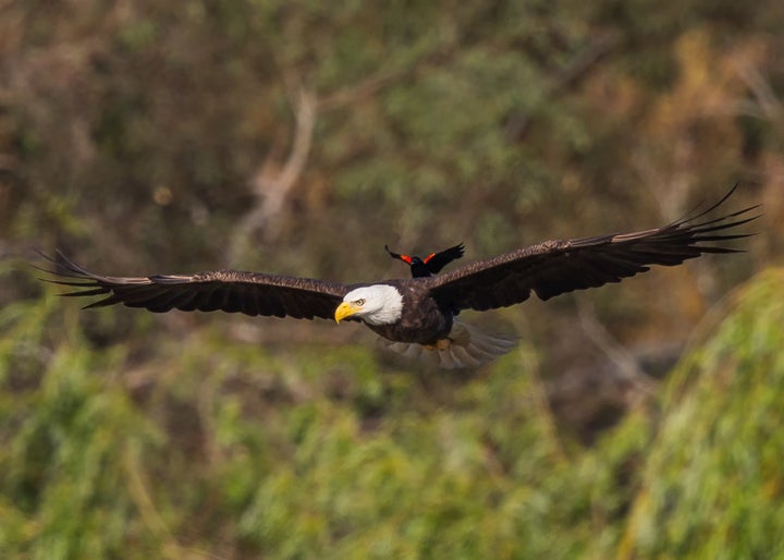
[[[505,354],[517,338],[485,332],[455,319],[448,338],[431,346],[379,339],[384,348],[406,357],[429,362],[445,369],[477,367]]]

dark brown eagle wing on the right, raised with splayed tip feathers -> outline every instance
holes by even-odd
[[[702,245],[747,234],[727,232],[758,216],[759,206],[700,221],[721,206],[735,185],[716,204],[695,216],[662,228],[568,241],[546,241],[530,247],[471,263],[428,279],[431,294],[453,311],[491,309],[524,302],[531,291],[549,300],[574,290],[597,288],[649,270],[650,265],[675,266],[703,253],[738,249]]]

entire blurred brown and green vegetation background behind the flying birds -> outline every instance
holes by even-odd
[[[784,558],[784,4],[0,3],[3,558]],[[405,277],[762,204],[733,256],[466,320],[79,312],[28,265]],[[453,265],[454,266],[454,265]]]

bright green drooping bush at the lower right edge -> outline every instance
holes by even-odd
[[[784,558],[784,270],[674,372],[622,558]]]

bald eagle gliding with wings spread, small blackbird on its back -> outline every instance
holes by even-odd
[[[706,216],[735,191],[705,211],[661,228],[574,240],[546,241],[462,266],[433,272],[463,254],[455,245],[420,259],[425,268],[414,278],[343,284],[313,278],[264,272],[217,270],[195,275],[112,277],[89,272],[58,252],[50,280],[79,290],[62,295],[107,295],[86,307],[123,304],[150,312],[223,311],[256,316],[360,321],[404,355],[441,367],[474,367],[509,352],[514,337],[490,334],[456,316],[464,309],[487,311],[526,301],[531,292],[549,300],[574,290],[597,288],[649,270],[650,265],[675,266],[703,253],[739,249],[705,242],[748,236],[734,228],[758,216],[752,206],[719,218]],[[733,231],[728,231],[733,230]],[[408,261],[387,249],[395,258]],[[432,263],[430,269],[427,265]]]

